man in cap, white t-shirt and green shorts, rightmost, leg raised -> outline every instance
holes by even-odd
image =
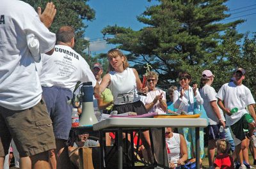
[[[226,114],[227,126],[230,126],[233,133],[234,142],[236,145],[236,156],[241,164],[240,168],[244,168],[243,154],[241,149],[245,147],[241,146],[241,141],[245,139],[243,129],[249,129],[248,137],[253,141],[254,147],[256,147],[256,138],[253,135],[255,128],[256,115],[253,108],[255,101],[252,93],[248,87],[242,84],[245,78],[245,71],[243,68],[238,68],[234,71],[234,82],[229,82],[221,86],[220,91],[217,94],[218,105]],[[248,108],[248,114],[246,107]],[[237,108],[238,111],[232,113],[230,110]]]

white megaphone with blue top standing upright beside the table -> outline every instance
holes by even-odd
[[[92,126],[98,120],[93,109],[93,87],[92,82],[85,82],[81,87],[82,114],[79,116],[79,126]]]

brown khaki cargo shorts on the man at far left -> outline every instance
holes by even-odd
[[[0,107],[0,156],[8,154],[13,138],[20,157],[55,149],[52,121],[44,99],[26,110]]]

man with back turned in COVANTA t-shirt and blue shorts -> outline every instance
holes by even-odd
[[[70,26],[60,27],[56,41],[54,53],[41,56],[40,81],[56,138],[57,149],[51,151],[50,163],[57,168],[69,169],[71,166],[66,142],[72,123],[72,106],[67,101],[72,98],[78,81],[92,82],[96,91],[99,84],[88,63],[73,50],[74,29]]]

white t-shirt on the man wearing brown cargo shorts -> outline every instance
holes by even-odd
[[[56,37],[27,3],[1,1],[0,11],[0,106],[24,110],[35,106],[42,98],[26,34],[33,33],[38,38],[40,53],[54,48]]]

